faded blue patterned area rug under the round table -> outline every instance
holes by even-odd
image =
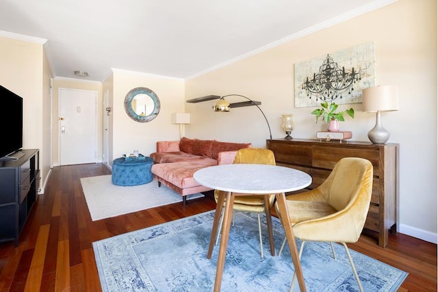
[[[103,291],[213,291],[219,250],[215,246],[207,259],[213,219],[209,211],[94,242]],[[278,254],[285,235],[279,220],[272,219]],[[262,233],[263,259],[257,215],[236,213],[221,291],[289,291],[294,274],[289,248],[271,256],[266,224]],[[301,263],[307,291],[359,291],[344,247],[335,244],[335,250],[336,260],[329,243],[306,243]],[[400,269],[350,252],[365,291],[396,291],[407,277]]]

